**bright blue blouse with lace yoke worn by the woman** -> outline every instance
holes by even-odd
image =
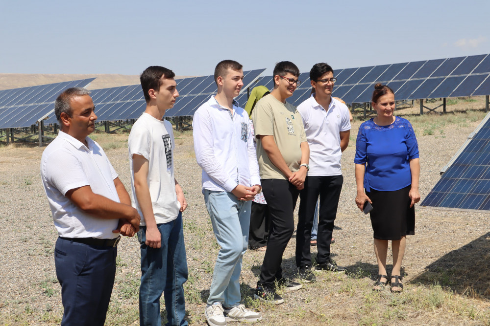
[[[407,119],[395,117],[391,125],[378,126],[371,118],[359,127],[354,163],[366,166],[366,191],[394,191],[412,184],[413,158],[418,158],[418,144]]]

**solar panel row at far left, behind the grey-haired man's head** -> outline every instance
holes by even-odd
[[[0,90],[0,129],[36,124],[53,110],[54,100],[64,89],[85,87],[94,79]]]

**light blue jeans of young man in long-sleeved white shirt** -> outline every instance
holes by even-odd
[[[241,300],[240,273],[248,245],[252,202],[239,200],[232,193],[207,189],[204,189],[204,201],[221,247],[207,303],[220,302],[226,307],[234,307]]]

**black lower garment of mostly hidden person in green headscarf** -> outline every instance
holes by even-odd
[[[270,230],[269,206],[252,201],[248,247],[258,249],[267,245]]]

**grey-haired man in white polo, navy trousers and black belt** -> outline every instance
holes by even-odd
[[[58,230],[61,325],[104,325],[116,275],[118,233],[133,236],[140,216],[102,148],[90,91],[73,87],[54,103],[58,136],[41,158],[41,177]],[[118,226],[119,221],[119,226]]]

